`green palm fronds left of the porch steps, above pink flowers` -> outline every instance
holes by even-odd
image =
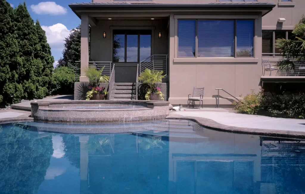
[[[83,70],[85,72],[85,76],[87,76],[89,82],[94,83],[95,86],[98,83],[108,83],[109,76],[102,75],[105,66],[103,66],[100,70],[97,70],[95,65],[88,65],[88,67],[84,67]]]

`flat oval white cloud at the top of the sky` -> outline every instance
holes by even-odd
[[[31,9],[38,15],[64,15],[67,13],[67,9],[57,5],[55,2],[40,2],[37,5],[31,5]]]

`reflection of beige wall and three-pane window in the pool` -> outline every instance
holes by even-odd
[[[196,130],[196,123],[192,127],[204,138],[181,144],[170,137],[169,180],[176,185],[172,192],[252,193],[260,181],[259,137]]]

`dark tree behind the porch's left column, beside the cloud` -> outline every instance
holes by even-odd
[[[81,60],[81,25],[70,31],[70,35],[65,38],[63,58],[58,60],[58,67],[68,67],[74,69],[75,61]]]

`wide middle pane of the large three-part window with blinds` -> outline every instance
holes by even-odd
[[[197,57],[234,57],[234,20],[198,20]]]

